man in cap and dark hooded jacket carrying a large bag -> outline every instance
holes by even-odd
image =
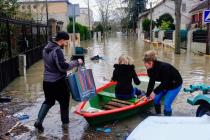
[[[43,102],[38,119],[34,126],[39,132],[43,132],[43,120],[49,109],[58,101],[60,104],[61,121],[64,128],[68,128],[69,124],[69,100],[70,95],[66,83],[66,72],[73,67],[82,64],[82,60],[74,60],[70,63],[65,62],[62,52],[63,46],[69,40],[66,32],[58,32],[55,42],[49,42],[43,50],[44,60],[44,79],[43,89],[45,101]]]

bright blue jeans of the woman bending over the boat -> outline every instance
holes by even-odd
[[[160,105],[162,97],[165,96],[164,100],[164,111],[165,112],[172,112],[171,105],[178,95],[179,91],[182,88],[182,84],[175,89],[171,89],[168,91],[161,91],[160,93],[155,95],[154,98],[154,105]]]

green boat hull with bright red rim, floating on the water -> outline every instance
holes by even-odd
[[[109,82],[108,84],[98,88],[96,96],[90,101],[80,103],[76,107],[75,113],[83,116],[90,125],[97,126],[106,124],[107,122],[125,119],[141,113],[153,105],[153,97],[147,99],[145,96],[143,96],[141,99],[133,98],[128,100],[131,104],[124,107],[103,110],[103,108],[100,107],[100,104],[102,104],[101,102],[108,103],[110,100],[116,99],[114,94],[115,85],[116,83]],[[86,108],[87,104],[93,108],[98,108],[99,111],[88,112],[84,109]]]

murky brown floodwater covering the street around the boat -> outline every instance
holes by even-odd
[[[174,65],[181,73],[184,85],[207,83],[210,84],[210,56],[190,53],[182,50],[180,55],[174,54],[172,48],[153,47],[144,44],[136,37],[122,36],[116,33],[107,39],[81,42],[81,46],[88,49],[85,56],[87,68],[93,70],[96,86],[99,87],[107,83],[113,72],[113,64],[121,54],[128,54],[135,60],[136,71],[145,72],[142,62],[143,54],[146,50],[155,49],[158,53],[158,59]],[[67,59],[69,54],[65,52]],[[99,55],[103,60],[91,61],[90,57]],[[24,134],[14,134],[14,139],[71,139],[71,140],[93,140],[93,139],[125,139],[127,133],[132,131],[145,117],[153,115],[154,111],[148,111],[143,114],[127,118],[123,121],[117,121],[107,124],[111,128],[111,133],[96,131],[89,127],[87,122],[80,116],[73,113],[76,102],[70,103],[70,125],[69,131],[64,132],[61,129],[59,106],[56,104],[51,108],[45,121],[45,132],[37,134],[34,131],[33,123],[37,117],[41,103],[44,100],[42,90],[43,61],[34,64],[28,71],[26,77],[15,79],[4,91],[6,95],[14,97],[13,102],[8,104],[7,108],[13,112],[20,111],[29,115],[29,120],[23,123],[30,131]],[[173,104],[174,116],[195,116],[196,107],[186,103],[190,94],[181,92]],[[23,109],[23,110],[21,110]]]

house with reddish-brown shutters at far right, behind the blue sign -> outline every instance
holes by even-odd
[[[203,11],[208,8],[208,0],[204,0],[194,7],[191,13],[192,28],[205,27],[206,24],[203,22]]]

